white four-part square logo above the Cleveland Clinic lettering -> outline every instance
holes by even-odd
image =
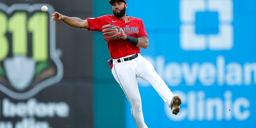
[[[182,50],[232,49],[232,0],[180,0],[180,21]]]

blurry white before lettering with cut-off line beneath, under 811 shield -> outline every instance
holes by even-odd
[[[66,102],[39,102],[30,98],[26,102],[13,102],[10,98],[3,98],[1,102],[0,128],[52,128],[50,118],[67,118],[70,107]],[[37,120],[40,118],[40,120]]]

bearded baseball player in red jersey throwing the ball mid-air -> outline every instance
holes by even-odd
[[[152,64],[140,53],[140,48],[148,47],[148,34],[141,19],[126,15],[126,0],[110,0],[114,15],[97,18],[71,18],[58,12],[52,14],[52,21],[63,21],[66,24],[102,32],[108,43],[112,66],[112,74],[124,91],[131,106],[132,116],[138,128],[148,128],[144,122],[140,92],[137,78],[152,84],[160,97],[172,110],[173,114],[180,111],[181,99],[174,95],[166,83],[154,70]]]

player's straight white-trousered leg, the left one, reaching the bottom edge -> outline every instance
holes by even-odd
[[[130,105],[132,116],[138,128],[148,128],[144,122],[140,92],[138,89],[136,71],[132,61],[114,64],[112,74],[120,87],[126,94]]]

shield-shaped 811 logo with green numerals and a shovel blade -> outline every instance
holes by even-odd
[[[55,48],[54,8],[42,4],[0,3],[0,91],[28,99],[59,82],[63,66]]]

